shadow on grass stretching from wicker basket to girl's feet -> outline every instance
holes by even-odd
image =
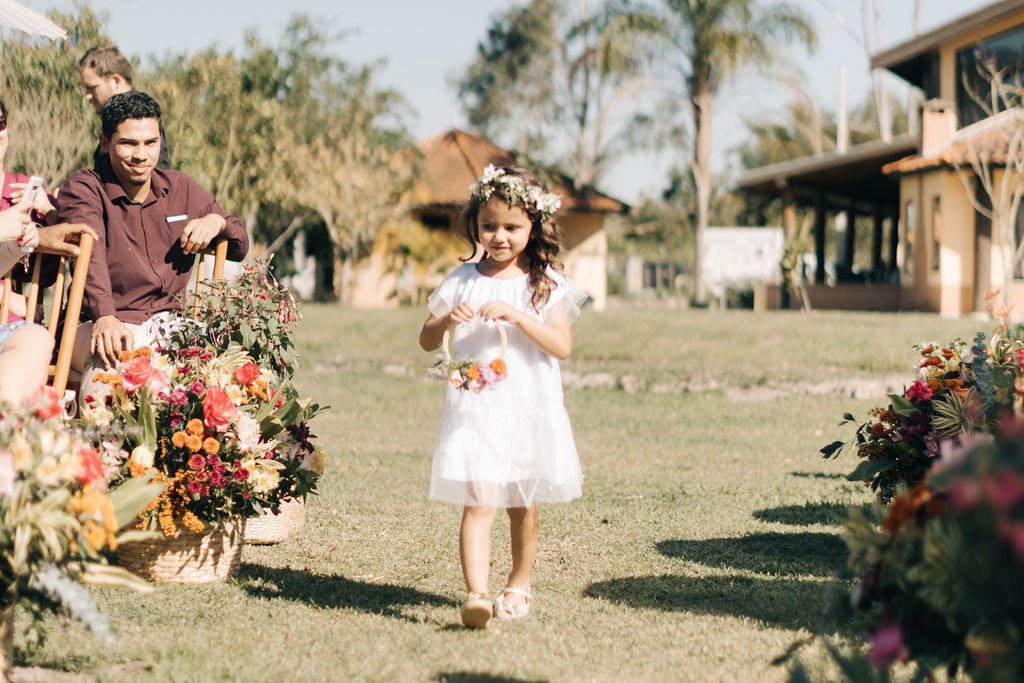
[[[410,620],[403,605],[454,607],[459,603],[433,593],[392,584],[352,581],[341,575],[324,575],[282,567],[243,564],[239,585],[250,595],[303,602],[327,609],[359,609],[374,614]]]

